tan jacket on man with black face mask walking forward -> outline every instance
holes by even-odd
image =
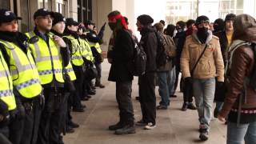
[[[218,82],[224,82],[224,63],[218,37],[209,31],[206,39],[206,51],[194,69],[193,78],[206,79],[218,78]],[[202,44],[196,35],[191,34],[186,38],[181,56],[182,77],[190,77],[190,70],[193,69],[198,58],[202,54],[206,44]]]

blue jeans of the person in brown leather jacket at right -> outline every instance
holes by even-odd
[[[256,122],[239,124],[228,122],[226,144],[256,144]]]

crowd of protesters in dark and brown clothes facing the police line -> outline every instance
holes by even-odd
[[[195,20],[179,21],[176,26],[169,24],[165,29],[163,20],[153,25],[154,19],[142,14],[136,23],[142,36],[139,42],[119,11],[112,11],[108,18],[113,30],[108,50],[109,80],[116,82],[120,117],[116,124],[109,126],[110,130],[115,130],[115,134],[134,134],[135,125],[154,129],[156,110],[167,110],[170,98],[177,97],[175,90],[181,73],[184,100],[181,110],[198,110],[200,140],[209,138],[210,121],[215,117],[227,124],[227,144],[256,143],[254,18],[248,14],[227,14],[224,20],[218,18],[210,23],[202,15]],[[138,76],[136,98],[141,105],[142,119],[134,122],[132,54],[137,45],[146,54],[146,70]],[[161,46],[165,54],[161,53]],[[159,54],[166,57],[166,62],[158,62],[162,59],[158,58]],[[158,106],[156,83],[161,96]]]

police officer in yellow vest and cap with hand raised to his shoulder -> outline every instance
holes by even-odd
[[[66,43],[57,35],[51,34],[51,13],[39,9],[34,13],[34,30],[26,33],[29,38],[38,38],[31,43],[30,50],[38,68],[40,82],[44,88],[46,106],[38,130],[37,144],[58,143],[59,122],[63,106],[64,79],[62,67],[69,63]]]

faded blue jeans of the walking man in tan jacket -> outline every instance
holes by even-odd
[[[210,128],[212,107],[214,104],[215,78],[193,80],[193,94],[195,104],[198,108],[199,122],[201,125]]]

